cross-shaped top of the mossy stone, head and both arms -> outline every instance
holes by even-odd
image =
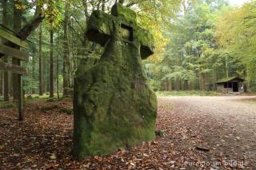
[[[142,59],[154,53],[153,35],[138,26],[136,13],[121,3],[112,7],[111,15],[95,10],[90,16],[86,37],[104,46],[114,31],[118,31],[124,41],[138,42]]]

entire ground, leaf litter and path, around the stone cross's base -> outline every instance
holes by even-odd
[[[163,136],[80,162],[71,156],[69,100],[28,101],[25,121],[0,103],[0,169],[255,169],[254,101],[254,96],[158,97]]]

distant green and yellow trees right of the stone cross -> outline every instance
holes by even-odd
[[[226,5],[215,0],[182,3],[183,14],[171,19],[172,27],[165,31],[170,42],[162,60],[150,70],[150,78],[162,82],[157,89],[214,90],[219,79],[233,76],[255,82],[255,22],[250,17],[256,16],[255,3]]]

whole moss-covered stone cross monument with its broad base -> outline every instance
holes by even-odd
[[[154,38],[137,25],[136,13],[116,3],[111,15],[94,11],[90,41],[104,46],[90,69],[74,80],[74,156],[105,155],[154,140],[157,98],[146,84],[142,59],[154,53]]]

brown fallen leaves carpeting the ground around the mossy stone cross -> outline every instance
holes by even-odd
[[[198,169],[196,163],[221,162],[222,166],[204,165],[202,168],[234,169],[224,163],[230,159],[248,161],[246,152],[244,155],[241,152],[252,146],[241,144],[244,139],[234,131],[235,126],[224,119],[218,121],[211,116],[209,108],[205,114],[183,101],[176,104],[166,99],[158,101],[156,129],[162,130],[164,135],[136,147],[119,148],[106,156],[86,157],[80,162],[71,154],[72,116],[59,113],[58,109],[42,112],[37,105],[42,108],[43,103],[32,103],[27,107],[26,121],[19,122],[17,113],[0,109],[0,168],[182,170]],[[47,107],[63,105],[63,102],[48,103]],[[71,102],[65,101],[65,106],[71,107]],[[255,140],[250,142],[254,144]],[[198,151],[197,146],[210,148],[210,152]],[[255,168],[255,164],[238,168]]]

